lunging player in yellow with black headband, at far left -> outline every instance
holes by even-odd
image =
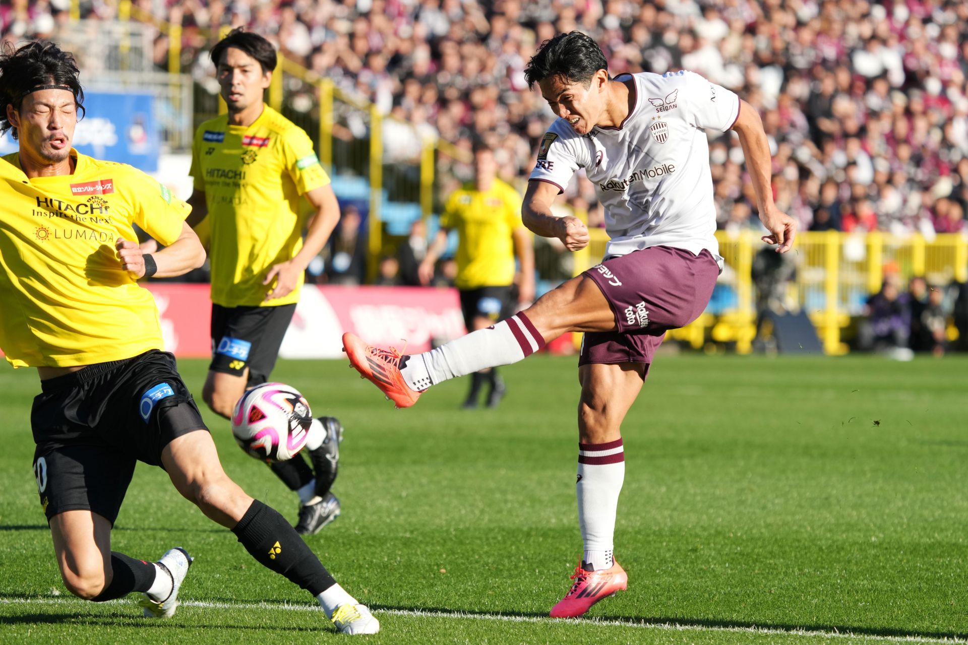
[[[336,584],[283,516],[228,479],[143,277],[182,275],[205,252],[189,206],[130,165],[71,147],[83,92],[74,57],[30,43],[0,55],[0,348],[36,367],[34,475],[68,590],[90,601],[141,592],[146,617],[171,616],[192,558],[158,562],[111,551],[111,529],[136,461],[162,466],[256,560],[318,598],[337,629],[378,622]],[[166,245],[143,253],[134,225]],[[270,555],[270,553],[272,555]]]

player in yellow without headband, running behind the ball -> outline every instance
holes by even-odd
[[[276,67],[272,44],[235,29],[211,57],[228,112],[196,132],[189,223],[204,219],[211,236],[213,357],[202,397],[228,419],[247,387],[268,380],[306,267],[340,215],[309,136],[262,102]],[[305,241],[303,196],[314,210]],[[299,495],[299,533],[316,533],[340,514],[330,486],[342,437],[338,420],[320,417],[306,442],[313,468],[302,454],[270,464]]]

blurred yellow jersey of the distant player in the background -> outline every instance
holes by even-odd
[[[489,191],[475,191],[473,185],[455,191],[444,206],[440,225],[457,229],[458,289],[506,286],[514,281],[514,239],[523,226],[521,195],[494,180]]]

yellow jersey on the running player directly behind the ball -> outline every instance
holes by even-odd
[[[228,125],[227,115],[206,121],[195,134],[192,177],[208,205],[212,302],[298,302],[302,276],[292,293],[269,302],[262,280],[302,249],[301,195],[329,183],[306,132],[268,105],[248,128]]]

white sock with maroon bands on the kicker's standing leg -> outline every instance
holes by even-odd
[[[621,439],[578,444],[578,525],[585,542],[583,561],[594,571],[612,566],[615,515],[624,479]]]

